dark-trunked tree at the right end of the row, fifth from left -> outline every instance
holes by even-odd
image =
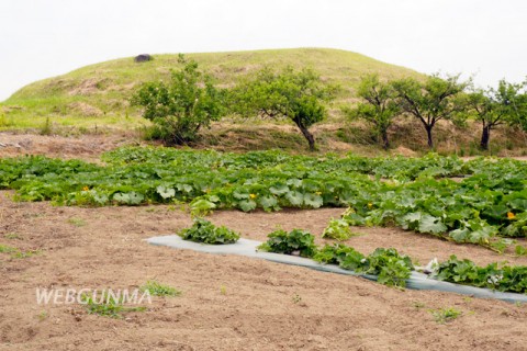
[[[480,147],[483,150],[489,150],[491,129],[502,124],[520,123],[517,113],[523,106],[519,93],[522,87],[523,84],[501,80],[497,89],[478,89],[464,97],[469,115],[482,124]]]

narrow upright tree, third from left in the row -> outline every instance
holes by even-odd
[[[373,124],[375,134],[382,139],[382,147],[388,149],[388,128],[393,118],[401,114],[395,90],[391,83],[379,81],[379,75],[368,75],[360,81],[357,95],[366,102],[358,103],[354,109],[345,109],[344,112],[350,118],[362,118]]]

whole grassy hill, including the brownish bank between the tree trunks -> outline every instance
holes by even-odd
[[[354,88],[360,77],[378,72],[383,79],[406,76],[424,77],[407,68],[388,65],[360,54],[324,48],[270,49],[235,53],[188,54],[200,67],[210,71],[221,84],[232,84],[237,78],[269,65],[295,68],[311,67],[323,79],[339,83],[344,90],[334,106],[355,100]],[[144,81],[168,79],[170,68],[178,68],[178,55],[154,55],[149,63],[135,64],[132,57],[115,59],[77,69],[67,75],[29,84],[0,103],[0,131],[41,128],[61,134],[131,131],[147,122],[128,105],[133,90]],[[334,109],[336,112],[337,109]],[[46,120],[51,128],[44,129]],[[202,147],[228,150],[282,148],[305,149],[305,140],[294,127],[269,121],[225,120],[203,131]],[[475,123],[466,129],[449,124],[438,125],[434,138],[439,151],[476,155],[481,126]],[[343,123],[338,113],[314,127],[322,151],[352,150],[359,154],[382,152],[362,123]],[[527,136],[509,128],[493,131],[492,154],[527,155]],[[390,132],[393,147],[403,152],[426,152],[424,131],[416,121],[399,121]],[[408,150],[408,148],[411,150]]]

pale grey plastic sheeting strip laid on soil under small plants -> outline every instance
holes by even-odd
[[[157,246],[168,246],[176,249],[187,249],[199,252],[216,253],[216,254],[238,254],[250,258],[264,259],[277,263],[285,263],[310,268],[322,272],[332,272],[345,275],[355,275],[366,278],[371,281],[377,281],[377,275],[359,274],[354,271],[348,271],[334,264],[321,264],[307,258],[298,256],[272,253],[257,251],[256,248],[261,244],[260,241],[239,239],[236,244],[229,245],[204,245],[193,241],[187,241],[176,235],[153,237],[146,239],[147,242]],[[414,290],[435,290],[439,292],[457,293],[463,295],[471,295],[481,298],[495,298],[508,303],[527,303],[527,295],[515,293],[495,292],[489,288],[481,288],[468,285],[453,284],[429,279],[426,274],[412,272],[410,279],[406,280],[406,287]]]

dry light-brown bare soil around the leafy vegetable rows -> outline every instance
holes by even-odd
[[[70,152],[60,149],[64,144],[46,149],[51,144],[42,140],[31,138],[33,146],[43,143],[43,154],[87,159],[121,143],[89,139],[92,146],[79,141]],[[191,224],[190,215],[173,206],[56,207],[13,202],[12,195],[0,192],[0,245],[36,253],[0,252],[0,350],[526,350],[527,305],[402,291],[360,278],[146,244]],[[307,229],[323,244],[323,228],[341,212],[229,211],[209,218],[247,238],[265,240],[281,226]],[[452,253],[480,264],[527,264],[526,258],[394,228],[354,230],[362,235],[347,244],[365,253],[395,247],[423,264]],[[132,290],[148,280],[182,295],[154,296],[146,312],[122,319],[90,315],[79,304],[36,302],[38,287]],[[447,324],[434,320],[431,309],[450,307],[462,315]]]

